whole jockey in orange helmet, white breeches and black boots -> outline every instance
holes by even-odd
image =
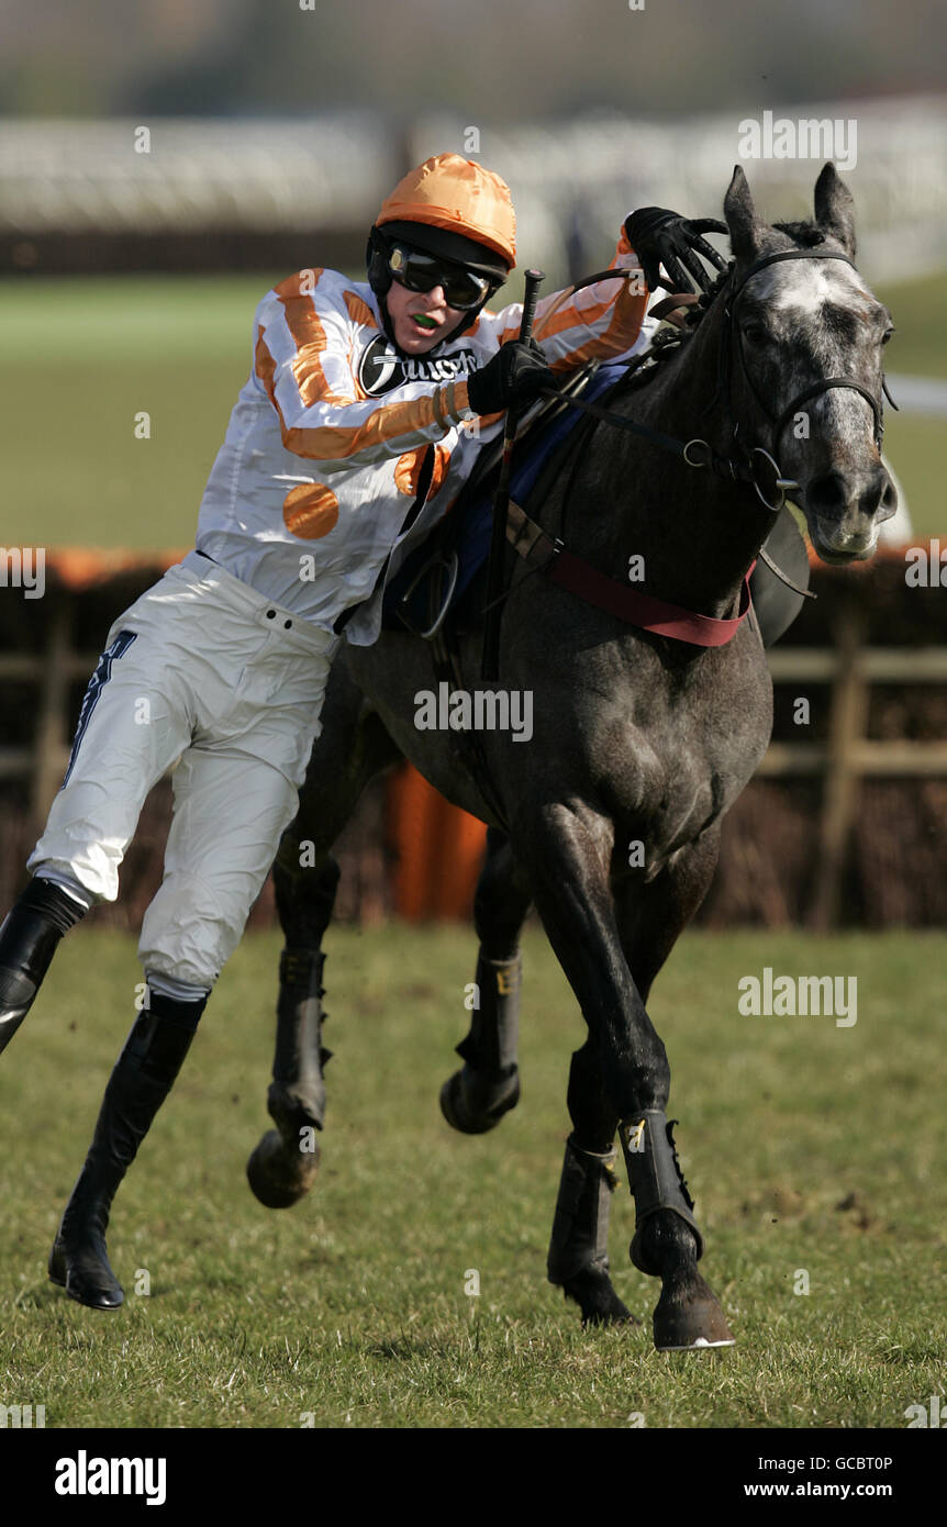
[[[658,253],[667,264],[698,247],[655,212],[637,253],[622,229],[616,267],[648,258],[657,276]],[[536,342],[519,344],[519,304],[486,307],[515,263],[506,182],[437,154],[383,203],[368,282],[316,269],[267,292],[196,548],[108,632],[34,878],[0,927],[3,1051],[63,935],[116,899],[145,796],[176,765],[165,876],[139,942],[145,1005],[49,1261],[82,1304],[122,1304],[112,1200],[296,811],[339,643],[376,640],[386,577],[451,507],[506,408],[551,373],[646,344],[648,293],[625,279],[542,299]]]

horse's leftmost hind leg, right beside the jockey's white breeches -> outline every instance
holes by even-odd
[[[339,883],[331,844],[367,782],[397,762],[399,750],[348,676],[333,667],[295,820],[283,834],[273,883],[286,938],[280,957],[276,1052],[267,1110],[269,1130],[247,1162],[255,1196],[270,1209],[289,1208],[312,1186],[319,1164],[316,1130],[325,1119],[322,1067],[322,936]]]

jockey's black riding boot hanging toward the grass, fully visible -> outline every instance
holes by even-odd
[[[105,1251],[108,1211],[174,1084],[206,1003],[206,997],[199,1002],[177,1002],[160,993],[148,997],[150,1008],[134,1020],[108,1078],[86,1165],[49,1255],[52,1281],[70,1299],[95,1310],[116,1310],[124,1303]]]

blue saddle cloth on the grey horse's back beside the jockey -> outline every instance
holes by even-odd
[[[593,402],[596,397],[600,397],[608,391],[608,388],[616,385],[625,370],[625,362],[619,365],[599,366],[582,391],[582,400]],[[528,502],[530,493],[533,492],[539,473],[542,472],[542,467],[548,461],[550,455],[562,444],[562,441],[573,432],[579,420],[583,417],[585,415],[580,409],[567,408],[551,418],[548,425],[541,423],[533,432],[530,432],[530,435],[527,435],[527,438],[516,447],[516,455],[513,458],[510,498],[513,498],[518,504],[525,505]],[[405,591],[409,588],[411,580],[419,576],[425,563],[434,556],[441,534],[448,527],[448,521],[451,521],[451,542],[458,556],[457,586],[451,600],[451,609],[457,609],[461,597],[466,594],[490,554],[495,483],[496,470],[492,470],[486,473],[483,486],[472,495],[464,490],[441,524],[435,527],[428,539],[417,547],[409,557],[405,559],[403,565],[385,589],[382,608],[383,625],[386,629],[405,629],[405,623],[396,612],[396,608]],[[458,527],[454,524],[455,515],[460,516]],[[408,605],[405,606],[405,614],[415,629],[423,631],[431,625],[428,579],[422,579],[419,582],[411,599],[408,600]]]

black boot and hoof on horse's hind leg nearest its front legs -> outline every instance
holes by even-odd
[[[519,1102],[521,959],[477,956],[477,1002],[470,1032],[457,1046],[466,1061],[440,1090],[440,1110],[463,1135],[486,1135]]]

